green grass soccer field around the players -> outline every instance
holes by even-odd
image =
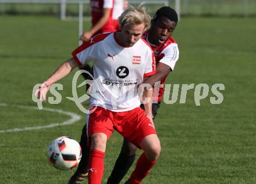
[[[161,104],[155,124],[162,154],[143,183],[256,183],[255,21],[198,17],[180,21],[173,34],[180,59],[167,83],[205,83],[210,89],[212,84],[222,83],[224,100],[211,104],[209,98],[214,95],[210,91],[201,106],[195,106],[193,89],[187,93],[185,104],[180,104],[179,98],[175,104]],[[78,22],[47,16],[0,16],[0,23],[0,183],[66,183],[74,170],[51,167],[46,151],[58,136],[80,140],[85,116],[66,99],[72,96],[74,73],[59,82],[63,84],[62,102],[43,106],[79,114],[80,121],[22,132],[4,130],[70,118],[19,105],[36,106],[31,100],[33,86],[70,57],[77,46]],[[109,139],[102,183],[121,144],[118,134]]]

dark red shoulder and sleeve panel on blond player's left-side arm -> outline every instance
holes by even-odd
[[[95,35],[95,37],[89,39],[86,42],[83,42],[82,45],[80,45],[78,48],[74,49],[74,51],[72,52],[72,56],[74,57],[74,59],[76,59],[76,62],[81,65],[81,62],[80,62],[79,58],[77,57],[78,53],[87,49],[91,45],[94,45],[97,42],[100,42],[100,41],[104,40],[106,37],[108,37],[109,34],[111,34],[111,33],[104,33],[104,34]]]

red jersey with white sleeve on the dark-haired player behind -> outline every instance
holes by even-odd
[[[145,40],[147,40],[148,44],[150,44],[150,42],[148,41],[148,31],[146,31],[142,37]],[[165,63],[173,70],[177,60],[179,59],[179,49],[178,49],[178,45],[177,45],[176,41],[173,38],[169,38],[165,42],[165,44],[163,44],[161,46],[156,46],[156,45],[152,45],[152,44],[150,44],[150,46],[154,51],[155,60],[156,60],[157,64],[159,62]],[[166,77],[167,77],[167,75],[165,75],[165,77],[161,80],[161,84],[165,83]],[[154,97],[154,99],[157,98],[158,102],[160,102],[162,99],[164,90],[165,90],[164,88],[160,88],[158,97]]]

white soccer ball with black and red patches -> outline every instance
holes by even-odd
[[[68,136],[62,136],[52,140],[47,151],[49,163],[60,170],[68,170],[76,167],[81,160],[81,156],[79,143]]]

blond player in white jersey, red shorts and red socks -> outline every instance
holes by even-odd
[[[143,9],[126,10],[119,17],[120,32],[99,34],[84,42],[37,91],[39,98],[45,100],[52,84],[78,64],[93,60],[94,78],[97,80],[94,81],[91,98],[94,111],[88,118],[89,184],[101,183],[106,141],[114,129],[144,151],[126,183],[140,183],[159,157],[161,146],[152,124],[151,101],[144,104],[143,111],[136,90],[146,77],[155,74],[154,53],[141,39],[149,21]],[[152,91],[144,93],[145,97],[152,98]]]

